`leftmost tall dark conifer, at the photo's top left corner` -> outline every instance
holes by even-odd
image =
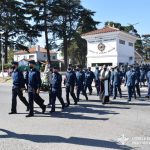
[[[33,42],[37,37],[37,32],[33,30],[26,16],[26,10],[23,3],[19,0],[1,0],[0,1],[0,27],[4,31],[3,45],[5,52],[5,63],[7,63],[8,47],[26,49],[23,44],[26,41]]]

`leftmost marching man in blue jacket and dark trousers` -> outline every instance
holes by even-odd
[[[24,85],[24,78],[23,73],[19,71],[18,69],[18,62],[12,62],[12,80],[13,80],[13,86],[12,86],[12,105],[11,105],[11,112],[9,114],[16,114],[17,113],[17,96],[19,99],[24,103],[24,105],[27,108],[27,111],[29,111],[29,103],[27,102],[26,98],[23,96],[23,90],[25,88]]]

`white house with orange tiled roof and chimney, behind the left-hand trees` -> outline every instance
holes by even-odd
[[[59,61],[57,59],[57,52],[50,51],[51,61]],[[29,52],[19,50],[14,54],[14,61],[21,60],[35,60],[37,61],[47,61],[47,51],[46,49],[40,47],[39,45],[29,49]]]

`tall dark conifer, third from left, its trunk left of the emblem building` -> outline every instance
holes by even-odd
[[[68,46],[77,30],[80,12],[83,7],[79,0],[54,0],[52,14],[57,18],[53,23],[53,32],[56,38],[60,38],[64,54],[65,67],[68,65]]]

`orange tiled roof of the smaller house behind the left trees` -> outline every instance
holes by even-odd
[[[46,49],[45,48],[42,48],[42,47],[40,47],[40,52],[41,53],[47,53],[47,51],[46,51]],[[27,51],[24,51],[24,50],[19,50],[19,51],[17,51],[17,52],[15,52],[15,54],[18,54],[18,55],[20,55],[20,54],[28,54],[28,53],[35,53],[36,52],[36,47],[32,47],[32,48],[30,48],[29,49],[29,52],[27,52]],[[50,53],[51,54],[55,54],[55,53],[57,53],[57,52],[55,52],[55,51],[53,51],[53,50],[50,50]]]

